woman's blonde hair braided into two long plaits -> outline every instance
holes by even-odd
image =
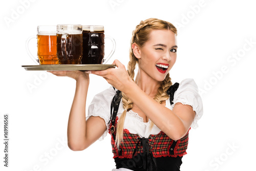
[[[141,21],[139,25],[136,26],[136,29],[133,31],[133,36],[131,39],[131,48],[130,48],[130,61],[127,66],[127,72],[134,81],[134,70],[136,68],[136,64],[138,63],[138,59],[135,57],[133,53],[132,45],[135,43],[139,47],[143,47],[144,43],[150,38],[149,35],[153,30],[170,30],[173,31],[177,35],[177,29],[169,22],[165,22],[164,20],[160,20],[157,18],[149,18],[144,21]],[[157,94],[154,98],[158,103],[162,103],[169,98],[169,95],[166,91],[172,86],[172,81],[170,81],[169,73],[166,75],[165,79],[162,81],[161,86],[158,88]],[[130,111],[133,108],[133,102],[124,93],[122,93],[122,102],[124,111],[118,119],[117,123],[117,132],[116,132],[116,145],[119,148],[120,143],[123,141],[123,124],[124,118],[126,116],[126,112]],[[151,129],[154,123],[151,122]]]

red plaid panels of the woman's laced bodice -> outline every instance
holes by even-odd
[[[118,117],[116,118],[117,123]],[[115,127],[116,127],[115,123]],[[112,124],[110,124],[110,127]],[[189,129],[190,130],[190,129]],[[189,132],[189,131],[188,131]],[[188,132],[186,135],[174,141],[170,139],[165,133],[162,131],[157,135],[150,135],[146,140],[150,147],[150,150],[155,158],[157,157],[177,157],[184,156],[186,153],[187,145],[188,145]],[[109,133],[111,134],[110,130]],[[116,134],[116,131],[114,132]],[[112,152],[114,154],[113,158],[133,158],[133,154],[136,150],[136,154],[143,153],[142,144],[139,142],[141,137],[138,134],[131,134],[129,130],[123,130],[123,141],[120,144],[120,149],[115,145],[115,140],[113,135],[111,134],[111,144],[112,144]],[[174,144],[175,143],[175,146]],[[172,145],[173,144],[173,145]],[[136,145],[138,145],[136,147]],[[174,146],[174,147],[173,147]],[[172,148],[171,148],[172,147]],[[137,149],[136,149],[137,148]],[[173,152],[172,152],[173,151]],[[172,154],[170,154],[172,153]]]

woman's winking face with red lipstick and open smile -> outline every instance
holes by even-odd
[[[163,81],[177,57],[177,40],[170,30],[153,30],[150,39],[138,48],[139,68],[154,80]]]

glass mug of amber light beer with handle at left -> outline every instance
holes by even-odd
[[[28,48],[29,41],[32,38],[37,38],[38,59],[31,54]],[[27,51],[32,60],[39,62],[40,65],[59,64],[56,39],[56,26],[37,26],[37,36],[27,40]]]

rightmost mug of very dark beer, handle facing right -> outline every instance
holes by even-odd
[[[106,58],[104,58],[105,38],[109,38],[113,43],[112,51]],[[103,62],[108,62],[115,52],[115,40],[110,36],[104,35],[103,26],[82,26],[82,39],[82,64],[102,64]]]

